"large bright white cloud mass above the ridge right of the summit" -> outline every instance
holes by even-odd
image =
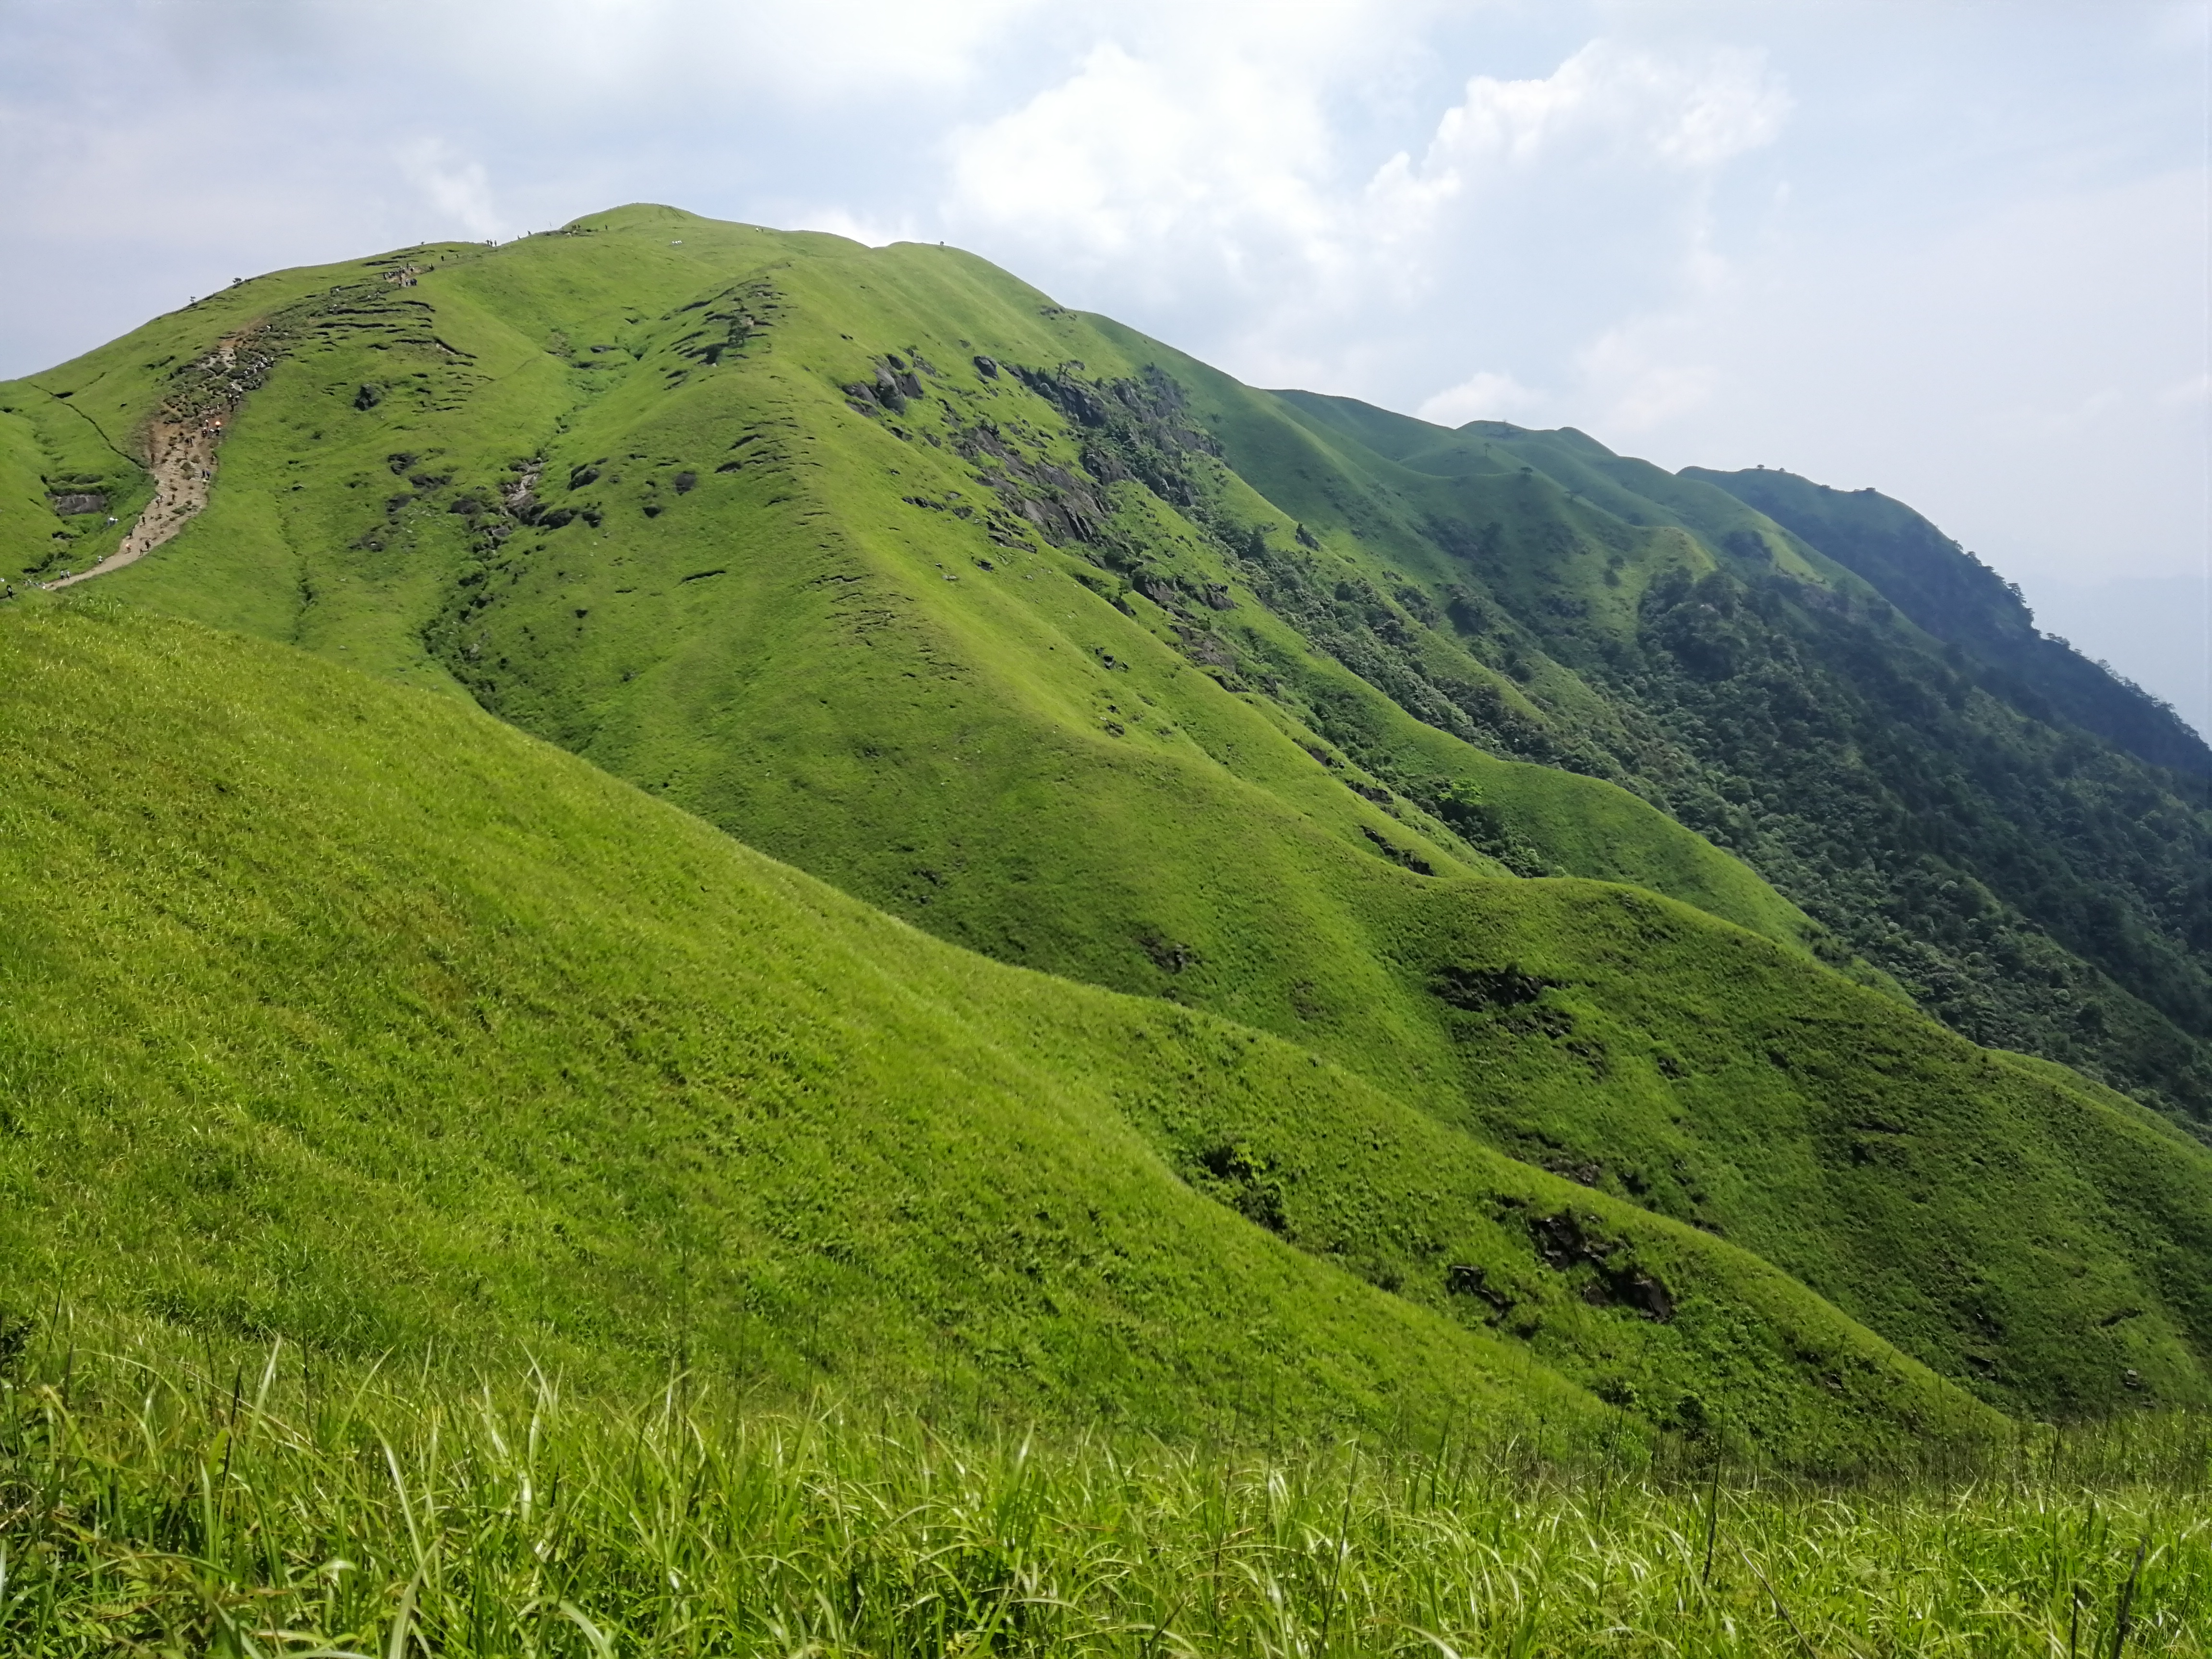
[[[1422,374],[1480,365],[1431,394],[1447,409],[1520,385],[1498,325],[1509,310],[1520,349],[1557,363],[1588,343],[1593,276],[1617,294],[1601,323],[1725,285],[1705,195],[1790,111],[1763,55],[1593,40],[1546,77],[1467,80],[1418,159],[1376,166],[1332,117],[1363,20],[1347,4],[1292,42],[1199,24],[1179,49],[1091,46],[953,135],[947,234],[1139,327],[1175,319],[1183,341],[1208,338],[1223,367],[1270,385],[1391,398],[1407,392],[1394,354]],[[1546,316],[1566,292],[1579,338]],[[1405,330],[1422,338],[1394,343]],[[1535,407],[1526,387],[1513,396]],[[1688,396],[1674,376],[1635,407]]]

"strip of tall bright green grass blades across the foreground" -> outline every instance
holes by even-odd
[[[1809,1486],[82,1356],[0,1383],[0,1652],[2205,1655],[2203,1418]]]

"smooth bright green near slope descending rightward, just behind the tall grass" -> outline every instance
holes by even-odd
[[[1597,1391],[1818,1464],[1993,1422],[1734,1245],[460,699],[100,599],[0,619],[0,668],[13,1352],[66,1298],[1166,1431],[1597,1433]]]

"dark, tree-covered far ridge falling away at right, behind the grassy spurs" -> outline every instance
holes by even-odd
[[[1453,630],[1542,703],[1500,750],[1621,781],[1958,1031],[2205,1133],[2212,816],[2168,710],[1882,498],[1283,403],[1305,431],[1223,427],[1230,462],[1407,562],[1455,555]]]

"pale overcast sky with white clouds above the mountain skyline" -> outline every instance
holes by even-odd
[[[2084,644],[2203,721],[2208,15],[0,0],[0,374],[619,201],[945,239],[1259,385],[1874,484],[2062,633],[2161,595]]]

